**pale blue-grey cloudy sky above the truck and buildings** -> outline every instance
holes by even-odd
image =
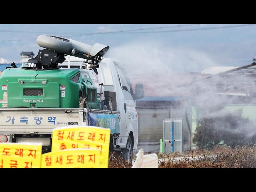
[[[40,34],[108,45],[106,57],[138,70],[201,72],[251,64],[256,56],[256,25],[248,24],[0,24],[0,58],[20,62],[22,51],[37,55]]]

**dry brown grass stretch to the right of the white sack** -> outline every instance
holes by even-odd
[[[174,161],[174,156],[164,156],[159,168],[256,168],[256,145],[238,146],[236,149],[216,148],[199,151],[191,158]],[[167,158],[167,159],[166,159]]]

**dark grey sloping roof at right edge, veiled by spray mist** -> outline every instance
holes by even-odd
[[[187,95],[200,93],[232,93],[232,94],[256,94],[256,63],[234,68],[204,78],[192,80],[180,84],[172,90],[182,92],[186,90]]]

